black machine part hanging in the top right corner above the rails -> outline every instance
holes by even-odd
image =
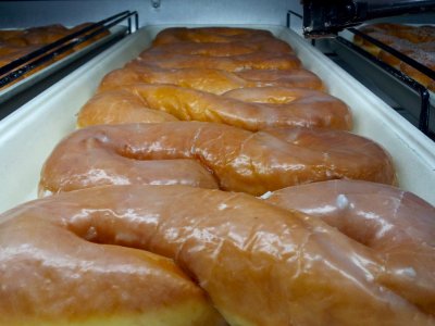
[[[434,0],[303,0],[303,35],[335,37],[369,20],[430,11],[435,12]]]

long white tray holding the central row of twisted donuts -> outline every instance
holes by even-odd
[[[376,140],[394,156],[401,188],[435,204],[435,143],[370,90],[282,26],[269,29],[288,41],[303,65],[352,110],[355,133]],[[36,198],[40,168],[59,140],[75,128],[76,113],[100,79],[149,47],[167,25],[148,26],[124,38],[0,122],[0,212]]]

